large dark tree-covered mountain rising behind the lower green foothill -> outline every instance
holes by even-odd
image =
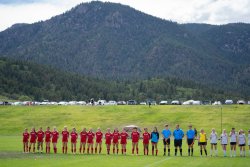
[[[232,25],[192,27],[121,4],[90,2],[1,32],[0,56],[102,79],[174,76],[247,94],[250,25]],[[233,37],[227,36],[228,29]],[[243,52],[226,50],[226,44]]]

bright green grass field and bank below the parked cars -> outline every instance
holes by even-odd
[[[131,155],[131,143],[127,146],[128,154],[107,156],[103,144],[102,155],[68,155],[61,154],[61,142],[58,143],[57,155],[23,154],[22,132],[24,128],[35,126],[57,126],[61,131],[64,125],[69,129],[76,127],[79,132],[82,127],[107,127],[121,129],[125,125],[135,124],[148,127],[150,130],[157,126],[159,131],[168,123],[171,130],[179,123],[186,131],[189,123],[198,130],[204,128],[209,134],[211,128],[221,131],[221,107],[218,106],[35,106],[35,107],[0,107],[0,164],[2,166],[248,166],[250,155],[247,157],[222,157],[218,145],[219,157],[200,157],[199,148],[195,143],[194,157],[187,157],[187,144],[183,142],[183,157],[174,157],[173,140],[170,157],[163,157],[163,144],[160,141],[159,156],[143,156],[142,141],[140,155]],[[228,131],[231,127],[247,130],[250,128],[250,105],[222,106],[222,128]],[[79,144],[79,143],[78,143]],[[209,145],[208,145],[209,146]],[[79,147],[79,145],[78,145]],[[208,148],[208,153],[210,148]],[[229,155],[229,147],[228,152]],[[239,149],[237,150],[239,155]]]

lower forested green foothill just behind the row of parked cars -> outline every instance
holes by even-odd
[[[238,99],[237,95],[209,89],[191,81],[152,78],[104,81],[55,70],[38,64],[0,58],[1,96],[16,100],[129,100]]]

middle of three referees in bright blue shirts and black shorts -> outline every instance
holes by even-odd
[[[175,147],[175,156],[177,155],[177,149],[179,147],[180,155],[182,156],[182,138],[184,137],[184,133],[182,129],[180,129],[180,125],[176,125],[176,129],[173,132],[174,136],[174,147]]]

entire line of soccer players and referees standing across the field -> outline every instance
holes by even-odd
[[[175,130],[173,131],[173,134],[171,130],[169,129],[168,125],[165,125],[165,129],[161,132],[163,136],[163,144],[164,144],[164,156],[166,155],[166,149],[168,149],[168,156],[170,156],[170,137],[173,135],[174,137],[174,147],[175,147],[175,156],[177,155],[177,149],[179,148],[180,155],[182,156],[182,140],[184,138],[184,132],[182,129],[180,129],[180,126],[177,124]],[[76,143],[78,139],[78,133],[76,132],[76,129],[73,128],[72,132],[69,133],[67,130],[67,127],[65,126],[63,131],[61,132],[62,135],[62,152],[67,153],[68,149],[68,139],[70,137],[71,139],[71,152],[76,153]],[[85,148],[87,145],[87,153],[93,154],[94,152],[94,139],[95,139],[95,153],[100,154],[102,151],[102,139],[103,139],[103,133],[100,128],[97,129],[97,132],[94,133],[92,129],[89,129],[89,131],[86,130],[86,128],[83,128],[83,130],[79,134],[80,136],[80,153],[85,153]],[[118,129],[116,128],[113,132],[111,132],[110,128],[107,129],[105,133],[105,144],[107,148],[107,154],[110,154],[111,145],[113,145],[113,154],[118,154],[119,152],[119,143],[121,144],[121,153],[126,154],[126,145],[127,145],[127,139],[129,137],[128,133],[123,129],[121,133],[119,133]],[[43,151],[43,141],[45,138],[45,144],[46,144],[46,153],[50,153],[50,144],[52,141],[54,153],[57,153],[57,141],[59,139],[59,132],[54,127],[53,131],[50,131],[50,128],[47,127],[47,130],[44,132],[42,130],[42,127],[39,128],[39,131],[35,131],[35,128],[32,128],[31,132],[28,132],[28,129],[26,128],[23,133],[23,151],[24,152],[30,152],[31,148],[33,148],[33,153],[35,152],[35,144],[37,142],[37,150],[38,152]],[[143,140],[143,149],[144,149],[144,155],[148,155],[149,153],[149,143],[151,140],[152,144],[152,155],[158,154],[158,141],[159,141],[159,132],[157,128],[155,127],[151,133],[148,132],[147,128],[144,128],[144,133],[142,134],[142,140]],[[137,128],[133,128],[133,131],[131,133],[131,139],[132,139],[132,154],[134,154],[136,150],[136,154],[139,152],[138,148],[138,142],[140,140],[140,133],[137,131]],[[207,135],[204,132],[204,129],[200,130],[200,133],[197,135],[196,131],[192,129],[192,125],[189,125],[189,129],[186,131],[186,139],[188,144],[188,156],[193,156],[193,146],[194,141],[198,140],[198,145],[200,146],[200,155],[202,156],[203,150],[205,152],[205,155],[207,156]],[[243,130],[239,130],[237,133],[235,131],[235,128],[232,128],[229,135],[227,134],[226,130],[223,130],[223,133],[218,136],[215,129],[212,129],[212,132],[209,136],[210,144],[211,144],[211,152],[210,155],[217,156],[217,142],[218,140],[221,140],[221,146],[224,152],[224,156],[226,156],[226,148],[227,145],[230,144],[230,155],[236,156],[236,145],[238,143],[240,147],[240,156],[245,156],[245,146],[246,146],[246,137],[243,132]],[[230,139],[230,143],[229,143]],[[120,141],[120,142],[119,142]],[[248,131],[248,146],[250,150],[250,130]]]

